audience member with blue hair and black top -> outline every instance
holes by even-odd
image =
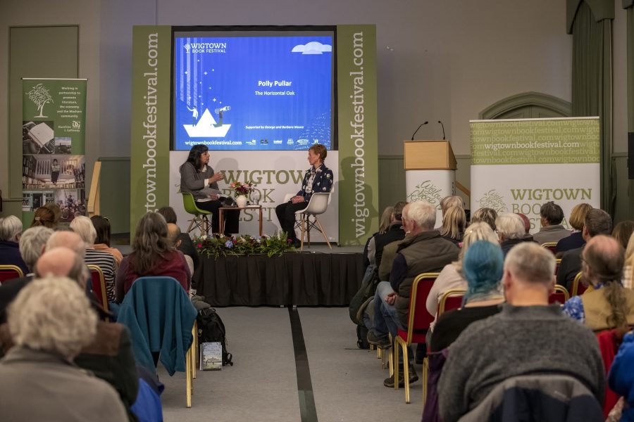
[[[434,327],[430,342],[432,352],[449,347],[473,321],[499,312],[502,295],[504,257],[499,245],[477,241],[471,245],[462,261],[462,273],[467,281],[463,307],[442,314]]]

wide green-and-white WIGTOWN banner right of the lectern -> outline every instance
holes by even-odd
[[[471,121],[471,212],[519,212],[540,229],[554,201],[564,226],[578,203],[600,207],[599,117]]]

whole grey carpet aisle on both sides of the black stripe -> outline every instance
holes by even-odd
[[[299,318],[294,325],[301,324],[306,347],[297,361],[288,309],[218,308],[236,364],[222,371],[198,371],[191,409],[185,408],[185,375],[170,377],[159,365],[166,385],[161,397],[165,421],[420,420],[421,381],[412,385],[411,404],[405,404],[404,390],[385,388],[387,370],[381,369],[375,352],[356,349],[347,308],[292,312]],[[420,375],[420,366],[416,369]]]

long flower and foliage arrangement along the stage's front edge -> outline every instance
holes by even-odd
[[[281,256],[284,252],[294,252],[293,244],[286,234],[275,236],[225,236],[212,235],[194,238],[194,245],[200,255],[206,257],[225,257],[227,255],[266,254],[268,257]]]

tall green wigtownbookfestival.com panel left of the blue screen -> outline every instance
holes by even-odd
[[[130,233],[169,203],[171,27],[132,30]]]

